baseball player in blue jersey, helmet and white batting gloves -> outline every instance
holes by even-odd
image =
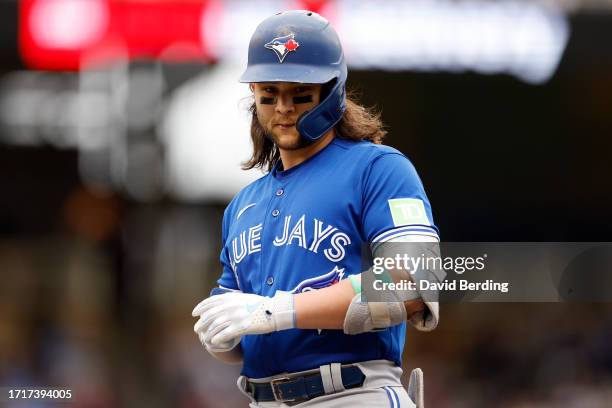
[[[380,144],[377,116],[347,99],[347,67],[329,22],[309,11],[265,19],[240,81],[254,96],[246,168],[267,174],[225,210],[223,272],[193,310],[221,361],[241,363],[251,407],[414,407],[402,387],[406,321],[431,330],[438,304],[361,301],[361,250],[437,242],[422,183]],[[414,401],[413,401],[414,400]],[[422,401],[420,402],[422,404]]]

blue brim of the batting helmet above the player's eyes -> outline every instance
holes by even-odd
[[[239,81],[293,82],[299,84],[325,84],[340,77],[339,67],[317,67],[306,64],[257,64],[247,68]]]

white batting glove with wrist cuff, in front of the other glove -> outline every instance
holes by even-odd
[[[295,327],[293,294],[277,292],[272,298],[230,292],[211,296],[191,313],[200,317],[193,330],[204,344],[224,347],[245,334],[265,334]],[[203,335],[203,336],[201,336]]]

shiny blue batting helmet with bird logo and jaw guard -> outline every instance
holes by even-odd
[[[240,82],[329,83],[331,89],[321,95],[321,102],[297,121],[300,135],[314,141],[342,118],[346,76],[342,45],[329,21],[311,11],[292,10],[268,17],[257,26]]]

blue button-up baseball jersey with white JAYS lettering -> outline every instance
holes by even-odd
[[[399,151],[335,138],[303,163],[278,165],[234,197],[223,217],[222,288],[274,296],[363,271],[364,245],[438,237],[423,185]],[[401,364],[406,324],[379,332],[291,329],[242,338],[242,374],[262,378],[323,364]]]

